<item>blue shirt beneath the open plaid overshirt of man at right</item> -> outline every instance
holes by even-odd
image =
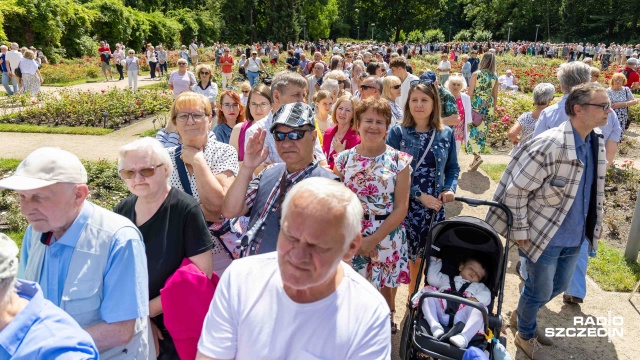
[[[576,144],[576,155],[584,165],[584,169],[580,177],[576,198],[558,231],[551,238],[549,246],[575,247],[580,246],[582,240],[585,239],[585,227],[596,165],[591,149],[591,134],[587,135],[586,140],[582,140],[580,135],[574,131],[573,139]]]

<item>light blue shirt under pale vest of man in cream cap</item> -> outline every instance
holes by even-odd
[[[52,238],[45,251],[38,284],[46,299],[60,306],[69,263],[85,224],[92,216],[99,216],[94,205],[84,202],[80,214],[60,239]],[[113,216],[120,216],[115,213]],[[27,227],[22,240],[18,277],[24,277],[29,260],[32,237]],[[103,299],[100,316],[107,323],[137,319],[149,315],[148,275],[144,243],[133,226],[123,226],[113,233],[102,231],[101,236],[114,238],[103,275]],[[55,240],[55,242],[53,241]],[[109,241],[105,239],[104,241]]]

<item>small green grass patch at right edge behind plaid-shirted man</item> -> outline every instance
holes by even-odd
[[[598,243],[598,254],[589,258],[589,275],[605,291],[631,291],[640,280],[640,264],[629,263],[622,250]]]

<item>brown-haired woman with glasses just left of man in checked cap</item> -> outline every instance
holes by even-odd
[[[229,139],[229,145],[238,151],[238,161],[243,161],[244,159],[244,143],[247,129],[254,122],[267,117],[271,112],[271,89],[265,84],[256,85],[249,92],[247,104],[249,104],[249,110],[246,113],[247,121],[236,124]]]

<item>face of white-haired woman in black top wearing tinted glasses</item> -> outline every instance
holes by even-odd
[[[129,191],[138,197],[153,196],[160,191],[166,191],[169,169],[165,165],[158,166],[160,164],[161,162],[154,159],[151,151],[147,149],[129,151],[122,164],[122,180]],[[140,170],[151,168],[155,168],[151,176],[145,177],[140,173]],[[133,178],[125,179],[123,173],[130,171],[135,171]]]

